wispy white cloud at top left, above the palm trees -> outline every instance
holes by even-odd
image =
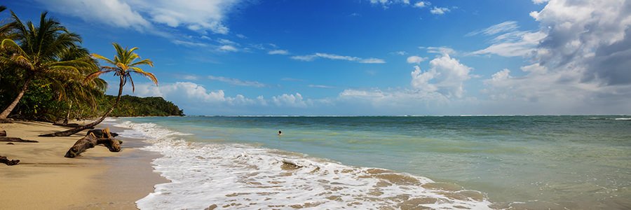
[[[240,0],[36,1],[55,12],[114,27],[144,31],[152,25],[165,25],[216,34],[228,34],[229,28],[223,22],[231,9],[240,3]]]

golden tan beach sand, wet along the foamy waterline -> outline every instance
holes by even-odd
[[[0,124],[0,130],[8,137],[39,141],[0,142],[0,155],[20,160],[19,165],[0,165],[0,209],[135,209],[135,201],[153,192],[155,184],[168,182],[151,168],[158,155],[137,148],[142,139],[117,137],[123,140],[120,153],[96,146],[77,158],[64,158],[85,131],[37,137],[65,128],[20,121]]]

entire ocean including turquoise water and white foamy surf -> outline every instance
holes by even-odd
[[[631,209],[629,116],[109,123],[163,155],[140,209]]]

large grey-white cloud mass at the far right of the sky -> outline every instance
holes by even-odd
[[[493,99],[538,103],[559,113],[628,110],[631,1],[534,2],[546,3],[543,10],[531,13],[539,22],[537,31],[520,38],[496,38],[498,43],[480,51],[524,56],[533,62],[520,68],[523,76],[511,76],[508,69],[494,73],[484,81],[484,92]],[[528,50],[494,47],[515,43],[529,43]]]

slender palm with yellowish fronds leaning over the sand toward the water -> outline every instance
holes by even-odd
[[[99,123],[101,123],[105,118],[107,118],[107,116],[109,116],[109,113],[111,113],[111,111],[114,111],[114,108],[116,108],[116,106],[118,105],[118,102],[121,101],[121,95],[123,94],[123,86],[125,86],[128,80],[130,81],[132,85],[132,91],[135,90],[134,80],[132,79],[131,73],[137,73],[142,76],[146,76],[147,78],[151,79],[151,81],[153,81],[156,85],[158,85],[158,79],[156,78],[156,76],[154,76],[153,73],[149,73],[147,71],[140,69],[140,67],[138,67],[143,64],[149,65],[152,67],[154,66],[154,62],[151,62],[150,59],[142,59],[140,61],[136,61],[136,59],[140,58],[140,56],[134,52],[138,48],[131,48],[131,49],[123,48],[121,47],[121,45],[118,45],[118,43],[112,43],[112,45],[114,45],[114,48],[116,49],[116,56],[114,57],[114,60],[111,60],[102,55],[92,54],[93,57],[96,57],[97,59],[102,59],[108,64],[111,64],[111,66],[101,66],[100,71],[91,73],[90,75],[86,77],[86,80],[84,81],[88,82],[90,80],[93,80],[101,76],[104,73],[114,72],[114,76],[118,76],[118,78],[120,79],[120,83],[118,83],[118,96],[116,96],[116,102],[114,102],[114,105],[112,105],[109,111],[104,113],[101,118],[99,118],[93,123],[90,123],[88,125],[83,125],[81,127],[76,127],[71,130],[56,132],[53,134],[40,135],[40,137],[68,137],[69,135],[76,134],[77,132],[81,132],[82,130],[86,130],[90,127],[94,127],[95,125],[98,125]]]

